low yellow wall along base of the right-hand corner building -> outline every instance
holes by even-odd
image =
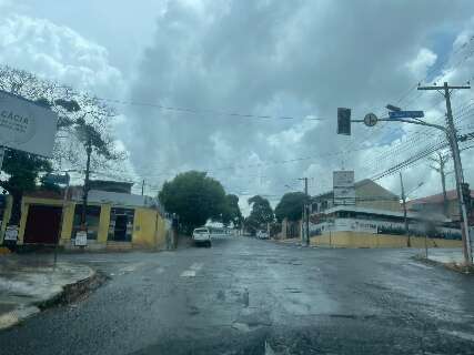
[[[424,247],[425,239],[411,236],[412,247]],[[428,247],[461,247],[461,241],[426,239]],[[311,245],[332,247],[406,247],[407,237],[404,235],[371,234],[362,232],[331,232],[312,236]]]

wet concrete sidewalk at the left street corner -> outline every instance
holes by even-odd
[[[10,327],[59,300],[64,288],[91,280],[85,265],[23,255],[0,256],[0,329]]]

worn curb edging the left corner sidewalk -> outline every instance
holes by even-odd
[[[0,332],[11,328],[47,308],[81,300],[81,297],[102,285],[107,278],[105,275],[91,268],[91,274],[88,277],[63,285],[61,291],[49,298],[20,304],[14,310],[1,314]]]

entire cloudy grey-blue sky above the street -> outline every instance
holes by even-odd
[[[119,178],[155,194],[178,172],[208,171],[243,207],[253,194],[276,203],[302,176],[312,194],[333,170],[375,176],[440,140],[397,123],[337,136],[337,106],[363,118],[394,103],[443,122],[443,98],[416,84],[474,77],[472,0],[0,0],[0,11],[1,64],[120,101]],[[453,94],[461,132],[474,131],[473,98]],[[407,190],[424,182],[412,197],[441,190],[426,160],[403,173]],[[379,182],[400,192],[397,174]]]

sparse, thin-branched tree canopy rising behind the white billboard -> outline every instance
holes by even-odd
[[[100,135],[101,145],[107,146],[111,153],[94,154],[90,162],[92,170],[120,172],[118,163],[125,159],[125,154],[118,150],[111,134],[112,119],[117,115],[111,106],[88,93],[77,92],[70,87],[8,65],[0,67],[0,90],[37,101],[58,114],[58,131],[51,161],[54,170],[85,166],[84,139],[78,133],[81,126],[88,125]]]

